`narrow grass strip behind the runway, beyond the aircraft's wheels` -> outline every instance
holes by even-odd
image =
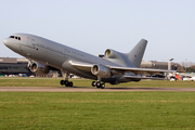
[[[0,78],[0,87],[65,87],[61,86],[62,79],[54,78]],[[69,79],[74,82],[74,87],[92,87],[93,80],[89,79]],[[141,80],[139,82],[127,82],[120,84],[109,84],[106,87],[158,87],[158,88],[194,88],[195,81],[167,81],[167,80]]]

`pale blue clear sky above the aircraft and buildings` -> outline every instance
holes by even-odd
[[[195,62],[194,5],[194,0],[4,0],[0,57],[21,57],[3,39],[26,32],[91,54],[129,52],[144,38],[144,61]]]

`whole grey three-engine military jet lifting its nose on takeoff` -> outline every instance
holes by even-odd
[[[94,79],[92,86],[104,89],[105,82],[118,84],[141,79],[158,79],[142,75],[174,73],[167,69],[140,68],[147,44],[144,39],[141,39],[129,53],[107,49],[103,57],[29,34],[14,34],[3,42],[14,52],[28,58],[28,68],[36,74],[48,74],[53,69],[66,72],[65,80],[60,82],[66,87],[74,86],[68,81],[69,74]]]

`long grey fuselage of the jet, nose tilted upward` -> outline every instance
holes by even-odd
[[[8,38],[4,40],[4,44],[14,52],[25,56],[28,60],[34,60],[43,65],[52,66],[84,78],[96,79],[96,76],[75,68],[70,65],[70,61],[119,66],[119,64],[109,62],[106,58],[91,55],[38,36],[28,34],[15,34],[13,36],[18,37],[20,40]],[[109,78],[102,78],[102,81],[110,83],[116,81],[127,82],[130,81],[130,79],[123,78],[122,75],[116,75]]]

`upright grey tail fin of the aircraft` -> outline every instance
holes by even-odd
[[[129,61],[135,67],[140,67],[143,54],[145,52],[146,44],[147,44],[147,41],[145,39],[141,39],[140,42],[127,54]]]

